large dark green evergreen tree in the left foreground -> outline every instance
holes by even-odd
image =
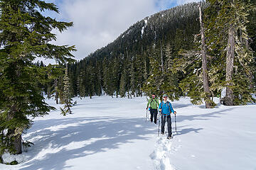
[[[53,107],[42,96],[46,72],[32,62],[36,57],[70,61],[74,46],[50,44],[56,40],[51,30],[60,32],[73,23],[45,17],[42,11],[58,13],[55,4],[33,0],[0,1],[0,155],[6,150],[21,154],[21,135],[32,120]]]

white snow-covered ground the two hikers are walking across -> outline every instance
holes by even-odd
[[[172,102],[177,133],[166,140],[145,122],[145,97],[75,100],[72,115],[36,118],[23,135],[35,145],[0,169],[256,169],[256,105],[205,109],[181,98]]]

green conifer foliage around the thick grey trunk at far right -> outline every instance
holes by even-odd
[[[252,28],[254,25],[252,8],[253,1],[208,0],[209,6],[206,9],[206,38],[210,55],[209,76],[211,90],[219,94],[227,83],[233,90],[234,105],[253,102],[250,94],[254,93],[255,86],[255,51],[253,49],[255,36]],[[235,60],[232,81],[225,81],[226,72],[226,49],[228,47],[228,26],[235,26]],[[250,40],[250,42],[248,41]],[[250,46],[251,47],[250,47]],[[225,100],[225,99],[224,99]]]

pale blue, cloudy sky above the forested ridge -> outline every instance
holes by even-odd
[[[57,35],[56,45],[75,45],[76,60],[116,39],[129,26],[146,16],[192,1],[200,0],[46,0],[60,13],[45,12],[58,21],[73,21],[73,28]],[[44,61],[45,62],[45,61]],[[46,61],[46,63],[49,61]]]

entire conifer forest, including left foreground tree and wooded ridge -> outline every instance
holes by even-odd
[[[255,1],[207,0],[145,16],[80,61],[72,53],[75,45],[51,44],[53,29],[62,32],[73,23],[45,17],[44,10],[58,7],[41,0],[0,1],[0,155],[33,145],[21,135],[33,118],[55,109],[44,98],[64,103],[63,115],[72,113],[75,96],[132,100],[168,94],[171,101],[205,101],[206,108],[215,107],[213,97],[226,106],[256,102]]]

